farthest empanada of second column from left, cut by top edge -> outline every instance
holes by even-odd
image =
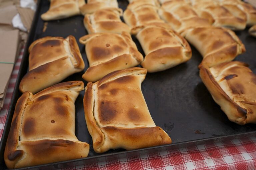
[[[117,0],[87,0],[87,4],[81,6],[80,11],[85,15],[104,8],[118,8]]]

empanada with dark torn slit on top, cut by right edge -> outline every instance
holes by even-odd
[[[256,123],[256,75],[247,64],[232,61],[202,66],[200,77],[230,121]]]

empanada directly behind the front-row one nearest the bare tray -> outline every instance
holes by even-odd
[[[95,82],[116,70],[137,66],[143,60],[131,35],[94,33],[79,39],[85,44],[85,52],[90,67],[83,74],[83,79]]]

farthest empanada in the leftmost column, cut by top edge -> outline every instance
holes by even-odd
[[[79,7],[85,4],[85,0],[50,0],[49,10],[41,15],[42,20],[56,20],[79,15]]]

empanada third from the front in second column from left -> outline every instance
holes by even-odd
[[[84,17],[84,26],[88,33],[119,33],[130,32],[130,27],[120,19],[123,11],[120,8],[105,8],[97,10]]]

